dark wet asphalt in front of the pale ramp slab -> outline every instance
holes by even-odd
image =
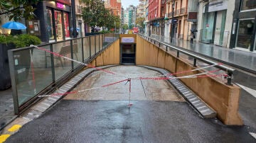
[[[205,120],[174,101],[68,101],[6,142],[255,142],[245,126]]]

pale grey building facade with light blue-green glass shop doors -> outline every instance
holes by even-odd
[[[198,9],[197,40],[229,47],[235,1],[201,1]]]

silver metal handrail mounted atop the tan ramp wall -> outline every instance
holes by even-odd
[[[192,57],[193,58],[193,66],[194,67],[196,67],[198,60],[201,61],[201,62],[204,62],[206,64],[215,65],[214,67],[227,72],[228,77],[227,77],[227,83],[226,84],[230,85],[230,86],[233,85],[231,80],[233,79],[233,72],[235,71],[235,69],[231,69],[230,67],[226,67],[226,66],[224,66],[222,64],[218,64],[217,62],[213,62],[210,59],[206,59],[204,57],[195,55],[195,54],[193,54],[191,52],[188,52],[188,51],[183,50],[181,48],[178,48],[176,46],[169,45],[166,42],[163,42],[163,41],[166,41],[166,38],[156,39],[156,38],[148,37],[146,35],[142,35],[140,33],[139,33],[139,36],[144,38],[145,40],[151,42],[151,43],[154,43],[154,45],[157,45],[158,47],[164,46],[166,48],[165,49],[166,52],[168,52],[169,50],[176,51],[176,57],[180,57],[181,53],[183,53],[184,55],[187,55],[188,57]],[[169,38],[167,38],[167,40],[169,40]]]

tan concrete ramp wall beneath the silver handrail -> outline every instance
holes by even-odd
[[[137,36],[136,63],[138,65],[161,67],[172,73],[195,69],[181,57],[177,58],[176,55],[166,53],[139,36]],[[178,76],[201,72],[193,71],[186,74],[178,74]],[[211,77],[182,79],[181,81],[213,108],[218,113],[218,118],[225,125],[242,125],[242,120],[238,113],[238,101],[240,98],[240,88],[238,86],[227,86],[223,81]]]

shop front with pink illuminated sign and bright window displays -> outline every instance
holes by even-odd
[[[46,1],[49,42],[70,38],[70,1]]]

